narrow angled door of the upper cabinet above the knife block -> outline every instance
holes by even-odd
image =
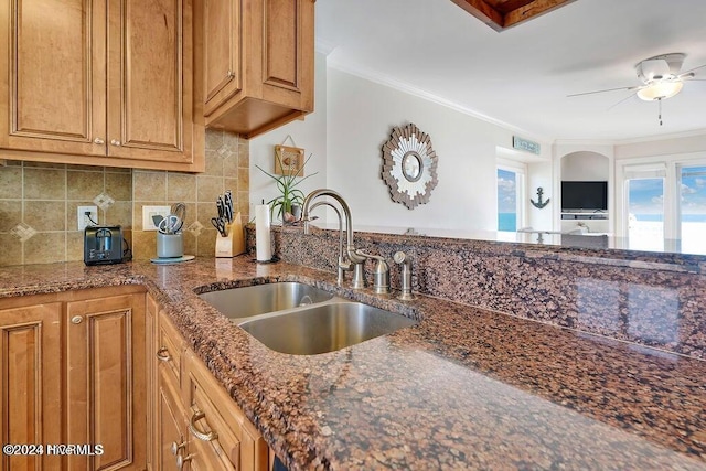
[[[201,0],[204,115],[240,90],[240,0]]]

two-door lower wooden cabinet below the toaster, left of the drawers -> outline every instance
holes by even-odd
[[[143,288],[1,299],[0,331],[2,442],[44,447],[1,469],[145,469]]]

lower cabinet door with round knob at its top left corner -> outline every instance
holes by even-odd
[[[66,439],[104,448],[68,469],[145,469],[145,295],[67,302],[65,323]]]

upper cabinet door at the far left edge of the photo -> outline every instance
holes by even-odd
[[[0,6],[0,147],[105,156],[105,2]]]

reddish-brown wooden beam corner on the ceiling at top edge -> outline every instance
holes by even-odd
[[[495,31],[503,31],[516,26],[527,20],[571,3],[576,0],[451,0],[473,17],[481,20]],[[504,7],[513,8],[503,14]],[[512,4],[512,7],[511,7]]]

